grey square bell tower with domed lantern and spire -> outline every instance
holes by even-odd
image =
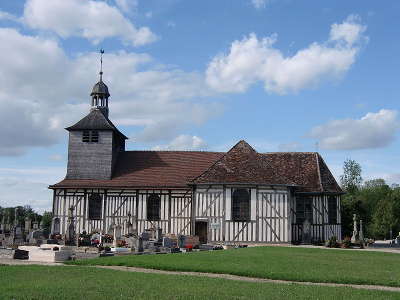
[[[118,156],[125,151],[127,137],[108,118],[110,93],[103,82],[104,50],[100,53],[100,81],[90,94],[90,112],[65,128],[69,131],[67,179],[111,179]]]

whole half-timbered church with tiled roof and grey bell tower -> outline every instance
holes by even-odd
[[[295,243],[341,239],[342,190],[315,152],[127,151],[110,121],[100,81],[87,116],[66,128],[68,167],[53,190],[52,232],[198,235],[203,243]]]

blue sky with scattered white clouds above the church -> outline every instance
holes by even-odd
[[[316,151],[400,183],[400,2],[0,1],[0,206],[51,208],[104,48],[129,149]],[[318,143],[318,145],[317,145]]]

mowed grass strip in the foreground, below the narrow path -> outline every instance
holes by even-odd
[[[0,266],[0,299],[399,299],[399,293],[68,266]]]

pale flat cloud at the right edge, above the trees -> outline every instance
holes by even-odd
[[[399,128],[397,111],[381,109],[361,119],[334,120],[314,127],[309,136],[319,140],[323,149],[381,148],[395,139]]]

